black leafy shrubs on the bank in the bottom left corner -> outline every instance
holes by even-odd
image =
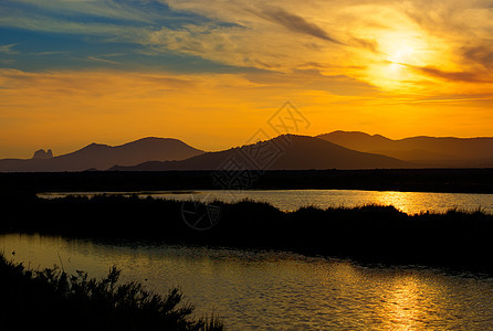
[[[179,289],[167,296],[138,282],[120,284],[112,268],[103,279],[82,271],[32,270],[0,255],[1,328],[12,330],[222,330],[217,318],[195,319]]]

